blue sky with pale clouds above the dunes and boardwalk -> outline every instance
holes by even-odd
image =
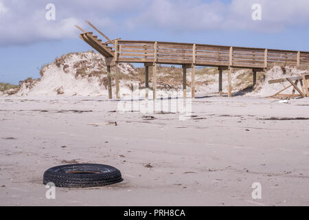
[[[309,51],[308,0],[0,0],[0,82],[39,78],[56,57],[91,50],[74,27],[93,31],[86,20],[110,39]]]

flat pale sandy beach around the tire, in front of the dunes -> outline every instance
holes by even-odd
[[[309,205],[309,98],[196,98],[187,120],[118,102],[0,98],[0,205]],[[124,181],[46,199],[44,171],[76,162],[115,166]]]

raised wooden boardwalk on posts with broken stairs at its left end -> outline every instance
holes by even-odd
[[[87,23],[89,23],[87,21]],[[144,63],[145,82],[148,88],[148,67],[153,66],[153,97],[156,98],[157,64],[182,65],[183,95],[186,94],[186,69],[192,68],[192,98],[194,98],[194,73],[196,66],[218,67],[219,94],[222,94],[222,70],[228,72],[228,96],[231,97],[231,74],[233,68],[253,69],[253,85],[256,72],[263,72],[273,65],[289,65],[295,67],[309,66],[309,52],[292,50],[271,50],[253,47],[228,47],[196,43],[174,43],[161,41],[124,41],[108,39],[100,30],[89,23],[107,41],[102,42],[93,32],[85,32],[81,28],[80,38],[106,58],[108,70],[108,96],[111,92],[111,67],[116,67],[116,94],[119,97],[118,63]]]

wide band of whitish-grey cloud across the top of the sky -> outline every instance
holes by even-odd
[[[56,5],[56,21],[45,19],[45,5]],[[253,3],[262,21],[253,21]],[[280,32],[308,27],[308,0],[0,0],[0,46],[77,38],[85,20],[106,32],[149,27],[167,32],[248,30]],[[307,26],[306,26],[307,25]],[[90,30],[90,28],[86,28]]]

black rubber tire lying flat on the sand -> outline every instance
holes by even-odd
[[[117,168],[104,164],[67,164],[54,166],[44,172],[43,184],[52,182],[57,187],[95,187],[122,181]]]

